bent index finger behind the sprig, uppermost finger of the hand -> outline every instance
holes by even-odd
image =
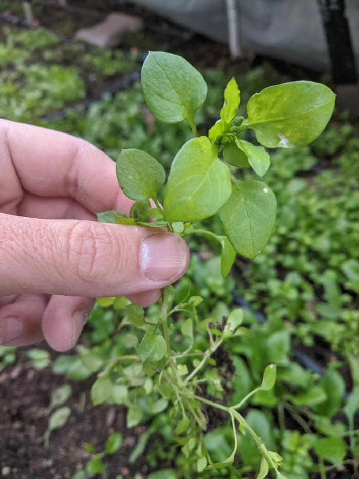
[[[115,163],[85,140],[38,126],[0,120],[0,159],[10,161],[23,189],[71,197],[93,213],[128,213],[133,201],[118,186]],[[1,183],[1,180],[0,180]],[[0,185],[3,189],[3,184]],[[4,182],[4,188],[11,182]]]

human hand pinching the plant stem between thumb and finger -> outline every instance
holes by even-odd
[[[132,201],[115,163],[84,140],[0,120],[0,344],[77,341],[95,297],[147,306],[187,269],[179,237],[97,223]],[[154,229],[154,228],[153,228]]]

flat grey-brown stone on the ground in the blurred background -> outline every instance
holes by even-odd
[[[98,47],[111,48],[121,43],[124,32],[141,30],[141,18],[123,13],[110,13],[105,20],[91,28],[82,28],[75,40],[82,40]]]

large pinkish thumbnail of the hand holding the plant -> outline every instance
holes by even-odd
[[[146,278],[169,281],[184,273],[188,263],[186,243],[170,233],[147,236],[141,246],[141,270]]]

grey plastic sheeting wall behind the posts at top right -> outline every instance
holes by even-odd
[[[316,70],[330,66],[317,0],[236,0],[242,51],[255,52]],[[214,40],[228,41],[225,0],[133,0],[172,22]],[[347,0],[356,60],[359,2]]]

